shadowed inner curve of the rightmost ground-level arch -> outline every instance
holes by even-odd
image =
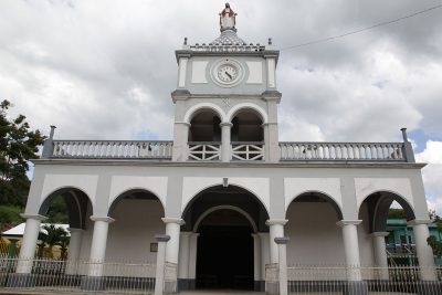
[[[415,219],[414,208],[400,193],[390,190],[373,191],[364,198],[358,208],[360,217],[362,206],[367,204],[370,232],[385,232],[387,230],[388,212],[393,201],[402,207],[408,221]]]

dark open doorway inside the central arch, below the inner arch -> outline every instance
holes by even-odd
[[[253,238],[250,226],[201,225],[197,288],[253,289]]]

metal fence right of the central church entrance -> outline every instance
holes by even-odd
[[[435,281],[422,281],[422,273],[434,273]],[[290,266],[290,294],[442,294],[442,267],[345,267]],[[347,277],[360,276],[361,281]],[[351,289],[352,288],[352,289]]]

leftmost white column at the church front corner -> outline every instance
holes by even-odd
[[[43,215],[28,215],[20,214],[27,219],[24,226],[23,240],[21,242],[19,263],[17,265],[17,273],[29,274],[32,270],[32,261],[35,255],[36,240],[39,238],[40,224],[46,218]]]

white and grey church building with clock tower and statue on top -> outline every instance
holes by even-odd
[[[358,266],[388,267],[393,202],[430,267],[421,280],[436,281],[424,164],[406,130],[402,143],[280,141],[280,52],[271,40],[239,38],[235,15],[227,6],[219,38],[186,39],[175,52],[172,140],[60,140],[52,127],[23,214],[22,284],[32,282],[28,262],[57,196],[69,204],[69,261],[94,262],[81,273],[84,289],[106,288],[101,262],[156,263],[157,294],[286,294],[286,265],[351,266],[344,280],[364,288]]]

